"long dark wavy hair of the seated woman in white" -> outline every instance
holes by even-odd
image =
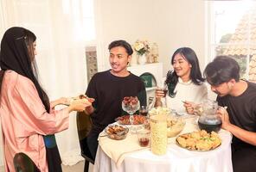
[[[185,58],[185,60],[187,60],[189,64],[191,64],[192,67],[189,78],[192,80],[192,82],[196,85],[202,84],[205,79],[202,77],[199,61],[194,50],[189,47],[181,47],[177,49],[171,57],[172,65],[174,64],[174,58],[176,54],[181,54],[182,57]],[[176,74],[176,71],[168,71],[165,83],[168,86],[170,97],[175,97],[176,92],[174,90],[176,88],[176,84],[178,83],[178,76]]]

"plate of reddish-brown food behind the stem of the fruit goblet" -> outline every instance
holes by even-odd
[[[147,118],[146,116],[141,114],[133,114],[133,117],[134,117],[133,125],[143,125],[144,121]],[[119,116],[118,118],[116,118],[116,121],[118,122],[119,125],[131,125],[129,114]]]

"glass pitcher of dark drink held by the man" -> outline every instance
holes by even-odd
[[[206,100],[202,102],[202,115],[199,117],[198,126],[207,132],[219,132],[222,121],[216,114],[219,106],[217,101]]]

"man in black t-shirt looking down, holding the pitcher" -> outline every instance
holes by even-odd
[[[256,171],[256,83],[240,80],[239,64],[227,56],[214,58],[204,76],[218,95],[218,104],[227,107],[219,115],[222,128],[234,135],[234,172]]]

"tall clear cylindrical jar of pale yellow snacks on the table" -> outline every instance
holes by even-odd
[[[166,114],[150,115],[151,151],[163,155],[167,150]]]

